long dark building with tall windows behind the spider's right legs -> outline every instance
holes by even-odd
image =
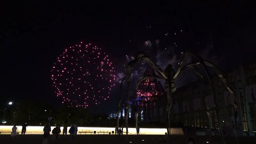
[[[229,85],[233,88],[238,103],[238,135],[255,135],[255,106],[256,106],[256,64],[240,66],[224,75]],[[218,76],[212,76],[213,93],[216,105],[219,109],[221,125],[232,129],[235,122],[233,102],[234,97],[228,92]],[[174,122],[182,122],[184,125],[205,127],[209,126],[206,115],[204,97],[207,96],[210,108],[213,112],[213,97],[210,95],[210,87],[202,81],[190,83],[179,87],[173,94],[173,119]],[[217,118],[212,113],[212,128],[218,128]]]

